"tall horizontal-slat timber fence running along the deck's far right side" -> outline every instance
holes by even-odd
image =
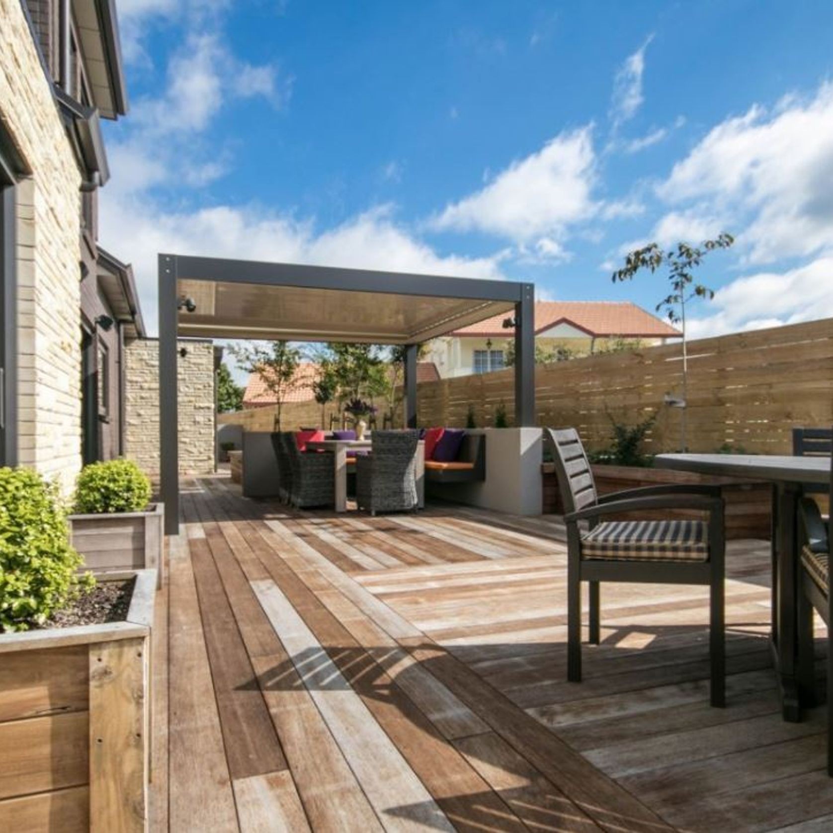
[[[646,347],[536,367],[536,420],[575,426],[591,449],[610,444],[611,420],[635,425],[656,413],[646,451],[677,451],[681,411],[664,404],[682,395],[681,346]],[[478,426],[494,424],[503,403],[514,412],[511,369],[422,382],[420,425],[464,426],[469,406]],[[287,428],[317,425],[320,407],[287,404]],[[224,415],[247,430],[269,430],[272,408]],[[686,444],[790,453],[793,426],[833,425],[833,319],[689,343]],[[250,427],[251,426],[251,427]]]

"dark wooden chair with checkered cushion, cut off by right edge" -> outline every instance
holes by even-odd
[[[831,459],[831,506],[833,506],[833,459]],[[805,705],[816,702],[816,652],[813,610],[827,626],[827,774],[833,776],[833,596],[830,592],[830,553],[833,513],[825,519],[811,497],[799,501],[801,519],[801,567],[798,578],[798,680]]]

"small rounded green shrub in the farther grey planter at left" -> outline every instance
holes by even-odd
[[[141,512],[151,499],[151,481],[132,460],[107,460],[84,466],[75,489],[75,511],[82,514]]]

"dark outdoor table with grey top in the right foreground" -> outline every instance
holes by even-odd
[[[772,636],[771,644],[781,687],[781,711],[786,721],[800,719],[802,701],[812,701],[811,691],[801,691],[797,677],[798,567],[801,541],[798,498],[803,486],[827,485],[829,457],[797,457],[752,454],[660,454],[657,468],[694,471],[720,477],[746,477],[769,481],[776,489],[772,530]]]

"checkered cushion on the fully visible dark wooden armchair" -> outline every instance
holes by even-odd
[[[708,525],[705,521],[604,521],[581,536],[581,557],[708,561]]]

